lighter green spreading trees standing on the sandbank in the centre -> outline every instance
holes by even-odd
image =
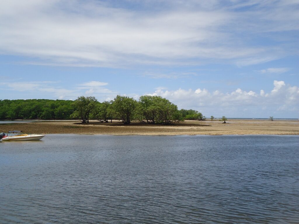
[[[169,124],[184,119],[200,119],[202,114],[194,110],[178,110],[178,107],[168,99],[161,96],[141,96],[139,100],[128,96],[116,96],[114,100],[103,103],[97,102],[94,97],[80,96],[74,102],[76,111],[72,118],[81,122],[89,122],[89,119],[97,119],[100,122],[108,122],[112,119],[122,120],[129,124],[132,120],[145,123]]]

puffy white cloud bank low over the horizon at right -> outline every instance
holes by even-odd
[[[268,113],[269,110],[273,113],[296,110],[299,112],[298,86],[291,86],[284,81],[277,80],[274,80],[273,85],[269,93],[260,90],[260,94],[240,88],[230,93],[222,93],[219,90],[210,92],[200,88],[196,90],[180,88],[178,90],[157,89],[152,95],[165,97],[179,108],[193,108],[206,115],[214,116],[222,116],[226,113],[230,116],[267,117],[270,115],[263,112],[266,108],[268,108]]]

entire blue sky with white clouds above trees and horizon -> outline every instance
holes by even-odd
[[[0,99],[156,95],[299,118],[299,0],[0,0]]]

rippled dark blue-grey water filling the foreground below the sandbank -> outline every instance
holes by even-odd
[[[0,223],[298,223],[299,136],[0,143]]]

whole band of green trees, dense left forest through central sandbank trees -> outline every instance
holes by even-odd
[[[116,96],[114,100],[98,102],[93,96],[80,96],[76,100],[17,99],[0,100],[0,120],[77,119],[88,123],[95,119],[109,122],[121,120],[143,123],[168,124],[188,120],[205,120],[202,113],[195,110],[178,110],[178,107],[161,96],[141,96],[139,100],[128,96]]]

